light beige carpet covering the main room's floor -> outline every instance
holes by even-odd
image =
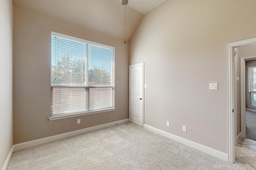
[[[7,170],[247,170],[133,123],[15,151]]]

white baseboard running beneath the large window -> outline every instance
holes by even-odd
[[[40,145],[40,144],[43,144],[43,143],[48,143],[48,142],[51,142],[51,141],[64,139],[66,137],[80,135],[82,133],[86,133],[86,132],[95,131],[95,130],[98,130],[98,129],[114,126],[114,125],[116,125],[116,123],[121,124],[121,123],[127,123],[127,122],[129,122],[129,119],[123,119],[123,120],[114,121],[114,122],[110,122],[110,123],[106,123],[106,124],[102,124],[102,125],[88,127],[88,128],[85,128],[85,129],[80,129],[80,130],[77,130],[77,131],[72,131],[72,132],[62,133],[62,134],[59,134],[59,135],[54,135],[54,136],[50,136],[50,137],[36,139],[34,141],[18,143],[18,144],[13,145],[14,146],[13,151],[20,150],[20,149],[25,149],[25,148],[28,148],[28,147],[34,147],[36,145]]]

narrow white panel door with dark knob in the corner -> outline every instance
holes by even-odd
[[[144,122],[144,63],[129,66],[129,118],[143,126]]]

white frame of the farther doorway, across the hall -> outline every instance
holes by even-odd
[[[240,58],[240,63],[241,63],[241,137],[245,138],[246,137],[246,104],[245,104],[245,62],[251,59],[256,59],[256,55],[253,56],[247,56],[247,57],[241,57]]]

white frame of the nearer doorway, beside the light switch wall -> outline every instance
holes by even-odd
[[[235,77],[235,66],[234,66],[234,48],[242,47],[245,45],[251,45],[251,44],[256,44],[256,38],[237,41],[234,43],[228,43],[228,162],[231,162],[231,163],[235,162],[235,141],[236,141],[236,134],[235,134],[236,110],[234,110],[234,113],[232,112],[232,110],[236,106],[235,96],[237,93],[235,91],[236,77]]]

